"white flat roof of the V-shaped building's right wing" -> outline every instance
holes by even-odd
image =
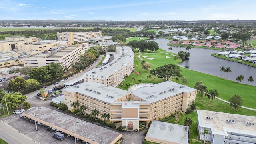
[[[145,85],[145,87],[143,87],[143,85]],[[180,94],[182,92],[188,93],[196,90],[172,81],[161,82],[152,86],[147,86],[146,84],[137,84],[137,86],[140,86],[140,88],[137,90],[132,90],[132,94],[150,103]]]

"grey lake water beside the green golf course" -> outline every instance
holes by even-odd
[[[168,48],[170,48],[170,46],[168,46],[167,43],[170,40],[166,38],[157,38],[157,39],[154,38],[153,40],[158,43],[160,48],[169,52]],[[171,52],[177,54],[181,50],[185,52],[186,47],[172,46]],[[220,67],[222,66],[230,67],[232,72],[228,73],[227,79],[237,82],[236,78],[240,75],[243,75],[244,81],[242,81],[241,83],[250,84],[247,78],[249,76],[253,76],[254,82],[252,82],[251,85],[256,86],[256,68],[211,56],[212,53],[218,52],[218,51],[220,50],[191,48],[191,50],[189,50],[190,52],[189,60],[184,60],[178,65],[183,68],[188,68],[190,70],[195,70],[198,72],[203,72],[206,74],[211,74],[219,77],[221,76],[221,72],[219,70]],[[222,72],[222,77],[226,78],[226,73]]]

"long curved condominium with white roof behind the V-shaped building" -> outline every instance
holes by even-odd
[[[125,76],[132,73],[134,53],[128,46],[116,47],[114,60],[102,67],[84,73],[85,82],[98,82],[107,86],[118,86]]]

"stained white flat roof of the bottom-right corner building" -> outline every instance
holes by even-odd
[[[226,132],[237,132],[256,135],[255,116],[213,112],[208,110],[197,110],[197,115],[200,126],[211,128],[213,134],[227,135]]]

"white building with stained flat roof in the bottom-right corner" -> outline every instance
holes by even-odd
[[[256,143],[256,117],[240,114],[197,110],[198,132],[200,139],[204,140],[204,129],[210,134],[205,140],[211,144],[255,144]]]

